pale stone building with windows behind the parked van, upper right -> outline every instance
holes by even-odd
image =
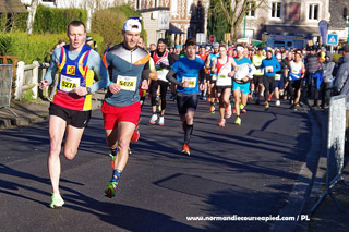
[[[238,37],[262,39],[262,35],[320,37],[318,22],[329,22],[329,0],[269,0],[267,5],[246,13],[246,26]]]

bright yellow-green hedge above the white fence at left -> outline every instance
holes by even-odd
[[[101,46],[103,38],[97,34],[89,34],[97,46]],[[45,62],[49,60],[49,50],[58,42],[59,39],[64,39],[69,44],[65,34],[46,34],[31,35],[26,33],[0,33],[0,56],[15,56],[19,61],[29,64],[37,60]],[[100,50],[100,49],[99,49]]]

